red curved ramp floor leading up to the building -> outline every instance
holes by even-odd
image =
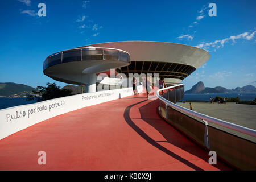
[[[47,119],[0,140],[1,170],[229,170],[130,96]],[[46,165],[38,152],[46,152]]]

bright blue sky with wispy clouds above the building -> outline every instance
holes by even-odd
[[[39,17],[39,3],[46,16]],[[209,3],[217,6],[210,17]],[[43,75],[48,55],[86,44],[145,40],[187,44],[211,57],[183,81],[256,86],[256,1],[0,1],[0,82],[66,85]]]

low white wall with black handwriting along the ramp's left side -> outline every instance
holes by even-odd
[[[137,88],[138,92],[142,92],[142,85]],[[0,110],[0,139],[56,115],[131,96],[132,94],[133,88],[105,90],[2,109]]]

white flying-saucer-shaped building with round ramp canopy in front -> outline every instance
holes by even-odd
[[[113,68],[127,77],[158,73],[166,82],[179,83],[209,58],[207,51],[184,44],[109,42],[53,53],[44,61],[43,72],[57,81],[85,84],[87,92],[95,92],[96,74]]]

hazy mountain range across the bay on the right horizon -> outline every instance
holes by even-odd
[[[237,92],[256,92],[256,88],[253,85],[246,85],[237,87],[236,89],[226,89],[222,86],[216,86],[214,88],[204,87],[204,83],[199,81],[190,90],[185,93],[237,93]]]

